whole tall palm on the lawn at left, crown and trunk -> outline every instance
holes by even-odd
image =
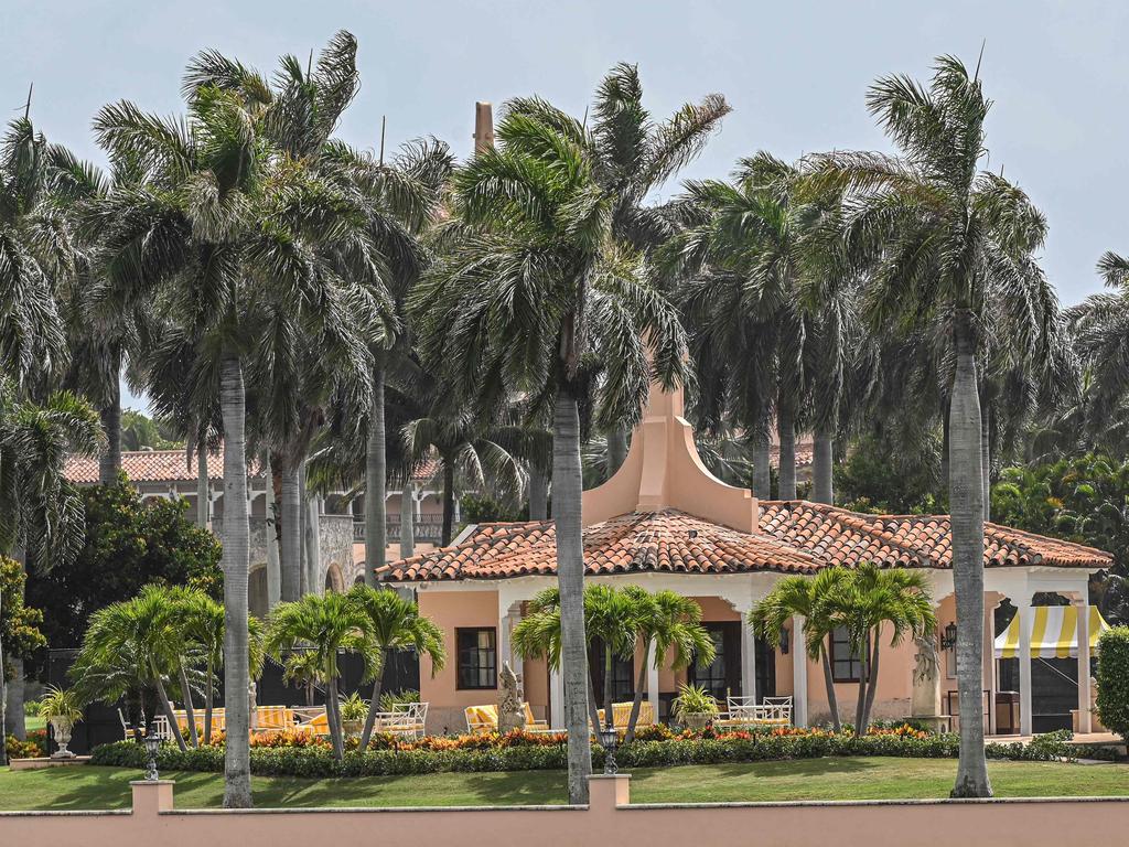
[[[349,50],[351,36],[331,43]],[[324,59],[324,56],[323,56]],[[100,206],[106,287],[116,299],[154,297],[181,328],[189,361],[184,392],[200,420],[220,413],[224,434],[225,689],[247,688],[247,550],[245,369],[272,304],[298,322],[378,323],[376,268],[336,256],[371,255],[357,203],[325,180],[316,163],[271,143],[270,128],[292,104],[243,64],[205,51],[189,66],[186,122],[165,121],[130,103],[106,106],[95,121],[112,161],[143,164],[141,187]],[[335,244],[332,254],[324,245]],[[126,261],[129,259],[130,261]],[[365,276],[368,273],[369,276]],[[278,309],[275,309],[278,311]],[[362,351],[359,351],[362,352]],[[217,403],[218,396],[218,403]],[[225,805],[251,800],[247,704],[227,710]]]

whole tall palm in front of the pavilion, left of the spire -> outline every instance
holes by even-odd
[[[422,358],[484,408],[522,392],[553,408],[553,519],[564,622],[569,798],[587,797],[580,408],[604,429],[638,422],[653,377],[682,376],[682,328],[639,255],[612,232],[590,130],[533,98],[507,105],[500,147],[456,172],[458,218],[410,312]],[[648,356],[651,361],[648,361]]]

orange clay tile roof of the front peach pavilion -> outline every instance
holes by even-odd
[[[806,501],[761,504],[745,533],[675,509],[636,512],[584,531],[589,576],[642,571],[808,574],[830,565],[948,568],[946,515],[863,515]],[[988,524],[984,565],[1105,568],[1112,557],[1067,541]],[[552,522],[479,525],[462,542],[384,567],[392,582],[553,576]]]

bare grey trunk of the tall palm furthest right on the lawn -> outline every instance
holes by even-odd
[[[949,509],[953,533],[953,588],[956,595],[956,684],[961,748],[954,797],[989,797],[980,698],[983,689],[984,527],[980,398],[971,309],[954,324],[956,377],[949,422]]]

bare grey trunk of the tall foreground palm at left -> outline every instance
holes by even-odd
[[[247,523],[246,394],[243,365],[235,356],[220,363],[224,418],[224,691],[227,743],[224,753],[224,806],[250,809],[251,745],[247,687]]]

